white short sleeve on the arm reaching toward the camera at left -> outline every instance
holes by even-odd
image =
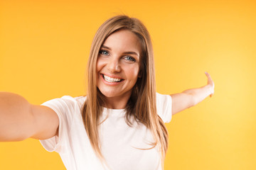
[[[74,114],[79,112],[78,102],[71,96],[54,98],[41,104],[53,109],[59,118],[58,136],[51,137],[47,140],[40,140],[43,147],[48,152],[65,152],[63,145],[68,142],[70,128],[73,123]]]

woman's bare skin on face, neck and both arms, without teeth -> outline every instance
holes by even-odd
[[[97,87],[104,94],[107,108],[125,108],[139,76],[139,39],[129,30],[110,35],[97,59]],[[102,74],[120,82],[107,82]],[[195,106],[214,93],[210,74],[206,86],[171,94],[172,114]],[[58,135],[58,115],[51,108],[28,103],[17,94],[0,92],[0,141],[21,141],[28,137],[46,140]]]

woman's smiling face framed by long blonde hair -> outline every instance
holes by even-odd
[[[97,58],[97,87],[107,98],[127,98],[139,74],[142,46],[129,30],[112,33],[100,48]]]

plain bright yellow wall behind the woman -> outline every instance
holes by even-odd
[[[97,28],[124,13],[154,44],[157,91],[215,81],[215,95],[174,115],[165,169],[256,169],[256,2],[0,1],[0,91],[33,104],[85,94]],[[65,169],[37,140],[0,142],[0,169]]]

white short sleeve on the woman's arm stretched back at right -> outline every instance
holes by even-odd
[[[156,93],[156,111],[164,123],[171,122],[171,96]]]

